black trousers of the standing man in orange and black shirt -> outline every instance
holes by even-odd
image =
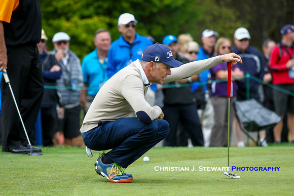
[[[35,44],[7,47],[7,57],[7,73],[22,120],[28,136],[34,138],[34,125],[38,117],[44,91],[38,48]],[[28,141],[4,77],[2,77],[1,81],[1,94],[2,151],[11,151],[18,146],[27,145]]]

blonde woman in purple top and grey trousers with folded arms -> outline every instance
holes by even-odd
[[[232,42],[227,37],[219,37],[215,47],[214,55],[224,55],[232,50]],[[212,80],[220,80],[228,78],[227,63],[220,63],[210,68]],[[236,64],[232,67],[232,83],[231,83],[231,102],[230,102],[230,126],[232,127],[235,116],[233,102],[236,101],[237,83],[233,81],[234,77],[242,77],[244,72]],[[211,84],[211,102],[214,108],[214,125],[211,131],[209,146],[223,147],[228,146],[228,83],[212,82]],[[232,134],[230,134],[231,136]]]

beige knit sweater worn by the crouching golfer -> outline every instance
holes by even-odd
[[[168,75],[164,82],[190,77],[222,62],[222,58],[216,56],[183,64],[172,68],[171,75]],[[146,102],[145,94],[148,87],[144,85],[143,79],[146,79],[146,76],[140,66],[139,60],[134,61],[103,85],[85,116],[81,132],[97,127],[100,121],[115,121],[121,117],[128,117],[134,111],[144,111],[151,120],[157,119],[162,110],[159,106],[151,106]]]

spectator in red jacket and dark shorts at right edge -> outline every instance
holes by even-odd
[[[273,84],[282,89],[294,92],[294,26],[287,24],[281,29],[282,41],[275,48],[270,58],[270,67],[273,69]],[[274,104],[276,112],[282,117],[287,112],[288,130],[291,142],[294,142],[294,97],[274,90]],[[276,143],[281,142],[283,121],[274,127]]]

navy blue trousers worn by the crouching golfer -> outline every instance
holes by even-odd
[[[99,122],[98,127],[83,133],[83,140],[92,150],[112,149],[107,153],[108,158],[127,168],[168,133],[169,125],[164,120],[146,124],[136,117],[127,117]]]

